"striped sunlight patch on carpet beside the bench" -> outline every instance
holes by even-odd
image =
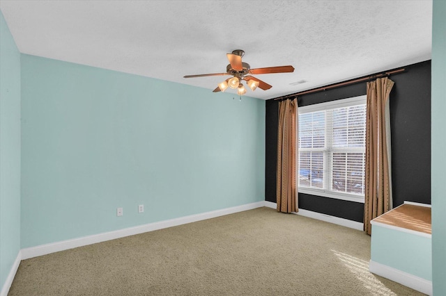
[[[392,290],[378,281],[378,279],[374,277],[374,274],[369,272],[369,263],[367,261],[342,252],[337,252],[334,249],[332,249],[332,252],[342,263],[344,263],[344,265],[346,265],[348,270],[355,274],[355,277],[358,280],[362,281],[364,287],[370,290],[371,293],[382,296],[397,296]]]

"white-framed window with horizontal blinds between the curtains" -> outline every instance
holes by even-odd
[[[299,192],[364,202],[366,96],[298,110]]]

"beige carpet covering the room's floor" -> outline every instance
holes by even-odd
[[[422,295],[369,260],[362,231],[257,208],[24,260],[8,295]]]

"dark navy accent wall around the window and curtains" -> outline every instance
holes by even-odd
[[[408,65],[390,77],[392,186],[394,206],[403,202],[431,204],[431,61]],[[299,106],[366,94],[366,83],[304,94]],[[278,101],[266,101],[265,200],[276,202]],[[362,222],[364,205],[299,193],[299,208]]]

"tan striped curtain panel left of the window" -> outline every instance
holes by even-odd
[[[277,133],[277,211],[298,211],[296,174],[296,131],[298,129],[298,99],[279,102]]]

